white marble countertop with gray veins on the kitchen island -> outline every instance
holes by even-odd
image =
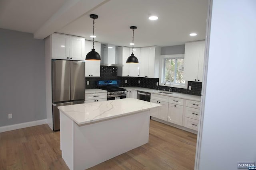
[[[126,98],[88,104],[58,106],[58,109],[78,125],[83,125],[114,117],[121,117],[158,106],[161,105],[134,98]]]

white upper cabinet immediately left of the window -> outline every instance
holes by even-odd
[[[159,78],[160,47],[140,48],[140,77]]]

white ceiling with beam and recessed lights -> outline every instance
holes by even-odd
[[[92,40],[89,15],[97,14],[95,41],[130,46],[134,25],[135,47],[164,47],[205,39],[207,10],[208,0],[1,0],[0,27],[40,39],[59,32]]]

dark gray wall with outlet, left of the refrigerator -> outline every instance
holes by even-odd
[[[46,119],[44,53],[44,40],[0,29],[0,127]]]

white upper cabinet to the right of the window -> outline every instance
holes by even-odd
[[[184,80],[202,82],[205,41],[185,43]]]

